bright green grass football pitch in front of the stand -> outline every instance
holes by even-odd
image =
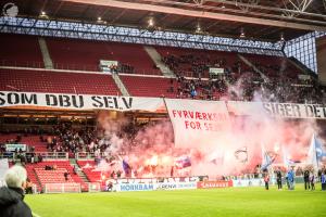
[[[263,188],[26,195],[36,217],[326,217],[326,192]]]

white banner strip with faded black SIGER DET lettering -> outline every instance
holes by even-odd
[[[326,118],[326,105],[294,104],[275,102],[227,102],[228,112],[234,115],[262,116],[285,118]]]

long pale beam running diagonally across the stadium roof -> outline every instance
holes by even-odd
[[[112,8],[120,8],[120,9],[138,10],[138,11],[159,12],[159,13],[175,14],[181,16],[198,17],[198,18],[234,21],[240,23],[269,25],[269,26],[303,29],[303,30],[326,31],[326,26],[306,25],[306,24],[299,24],[292,22],[268,20],[268,18],[248,17],[242,15],[223,14],[217,12],[186,10],[186,9],[178,9],[178,8],[163,7],[163,5],[122,2],[116,0],[63,0],[63,1],[86,3],[92,5],[112,7]]]

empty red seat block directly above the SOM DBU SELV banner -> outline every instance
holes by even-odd
[[[83,94],[120,94],[111,75],[0,69],[0,90]]]

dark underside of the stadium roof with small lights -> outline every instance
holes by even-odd
[[[255,40],[326,31],[325,0],[16,0],[21,16]],[[5,2],[4,2],[5,3]],[[99,18],[100,17],[100,18]],[[153,26],[149,25],[149,20]]]

